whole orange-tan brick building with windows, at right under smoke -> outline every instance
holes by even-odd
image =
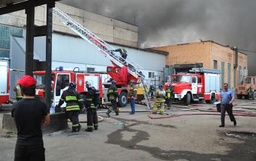
[[[221,82],[235,88],[242,81],[242,71],[247,69],[247,55],[238,52],[238,66],[235,65],[235,51],[214,41],[177,44],[155,47],[168,52],[165,64],[177,71],[188,71],[193,67],[216,68],[222,71]]]

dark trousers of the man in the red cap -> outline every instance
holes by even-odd
[[[14,161],[45,161],[43,143],[38,145],[19,145],[16,143]]]

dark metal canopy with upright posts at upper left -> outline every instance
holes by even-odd
[[[53,7],[60,0],[3,0],[0,1],[0,15],[25,10],[27,14],[25,74],[33,75],[34,37],[46,35],[46,105],[51,106],[51,37],[53,32]],[[46,25],[34,26],[34,8],[47,4]]]

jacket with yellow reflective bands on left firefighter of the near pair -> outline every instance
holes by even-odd
[[[74,88],[63,91],[58,108],[66,102],[66,111],[79,111],[83,108],[83,99]]]

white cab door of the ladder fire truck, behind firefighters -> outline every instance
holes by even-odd
[[[54,87],[54,101],[53,106],[59,104],[60,97],[62,96],[63,91],[68,90],[68,86],[70,83],[70,74],[66,73],[57,73],[56,75],[56,83]],[[66,107],[66,103],[63,103],[62,108]]]

